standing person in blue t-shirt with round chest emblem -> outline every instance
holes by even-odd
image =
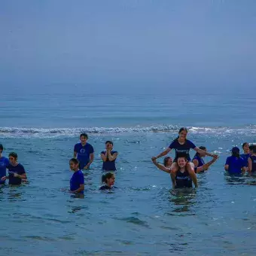
[[[81,143],[75,145],[74,158],[79,161],[80,169],[89,169],[94,159],[93,146],[87,143],[88,136],[86,133],[82,133],[80,136]]]

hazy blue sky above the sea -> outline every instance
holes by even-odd
[[[0,0],[1,90],[253,88],[255,45],[254,0]]]

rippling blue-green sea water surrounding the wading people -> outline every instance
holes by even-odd
[[[29,184],[0,188],[0,254],[254,255],[256,178],[224,175],[224,161],[233,145],[256,142],[255,97],[169,94],[3,93],[0,143],[5,156],[17,151]],[[183,125],[220,158],[197,190],[177,192],[151,157]],[[66,189],[82,131],[96,159],[78,199]],[[119,152],[111,194],[99,192],[107,139]]]

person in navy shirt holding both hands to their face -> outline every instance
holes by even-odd
[[[102,169],[105,171],[115,171],[115,160],[117,159],[117,151],[113,151],[113,142],[105,142],[105,151],[102,151],[100,156],[102,157],[103,165]]]

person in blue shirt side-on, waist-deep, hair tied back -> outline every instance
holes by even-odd
[[[69,160],[69,167],[74,171],[70,179],[70,192],[74,194],[84,194],[84,174],[79,169],[79,162],[76,158]]]

